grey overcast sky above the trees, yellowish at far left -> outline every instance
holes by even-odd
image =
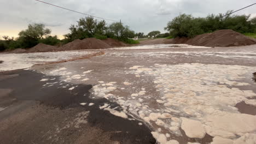
[[[82,13],[122,20],[135,32],[164,31],[168,21],[179,13],[193,16],[225,13],[255,3],[255,0],[41,0]],[[253,14],[256,5],[236,14]],[[52,35],[68,33],[68,28],[84,15],[34,0],[0,1],[0,35],[17,37],[28,23],[40,22]],[[107,21],[110,23],[111,21]]]

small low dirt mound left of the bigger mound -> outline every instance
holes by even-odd
[[[32,47],[31,49],[28,49],[26,52],[46,52],[46,51],[57,51],[57,47],[40,43]]]

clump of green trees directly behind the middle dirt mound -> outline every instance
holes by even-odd
[[[114,22],[107,26],[106,21],[97,21],[93,17],[85,17],[79,19],[77,25],[69,27],[70,32],[65,34],[64,43],[69,43],[75,39],[96,38],[107,39],[113,38],[124,41],[127,44],[136,43],[130,38],[135,37],[135,32],[131,31],[128,26],[123,23]]]

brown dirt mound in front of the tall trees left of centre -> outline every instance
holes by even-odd
[[[61,50],[84,50],[84,49],[106,49],[111,47],[104,41],[96,38],[86,38],[83,40],[74,40],[71,43],[60,47]]]

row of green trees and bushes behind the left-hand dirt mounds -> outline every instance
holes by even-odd
[[[85,17],[77,21],[77,25],[69,27],[69,33],[63,35],[65,39],[58,39],[57,35],[51,36],[51,30],[45,28],[42,23],[33,23],[28,25],[27,29],[19,33],[18,38],[3,36],[0,40],[0,51],[6,49],[30,48],[39,43],[47,45],[63,45],[75,39],[96,38],[107,39],[113,38],[123,41],[127,44],[138,44],[139,41],[132,40],[136,34],[123,23],[114,22],[107,25],[106,21],[97,21],[93,17]],[[142,34],[142,33],[140,33]]]

